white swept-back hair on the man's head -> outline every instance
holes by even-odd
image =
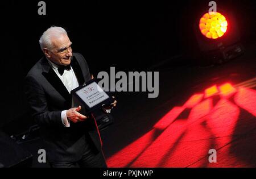
[[[61,35],[68,35],[67,31],[65,31],[62,27],[51,26],[46,31],[44,31],[43,35],[39,39],[40,47],[43,51],[44,48],[52,49],[52,38],[59,38]]]

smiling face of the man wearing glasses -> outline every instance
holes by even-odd
[[[69,65],[72,56],[72,43],[68,36],[61,35],[59,38],[52,38],[51,40],[53,48],[51,50],[44,48],[44,54],[57,65]]]

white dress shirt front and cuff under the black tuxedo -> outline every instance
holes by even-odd
[[[48,60],[49,64],[52,66],[52,69],[63,82],[64,86],[67,88],[68,92],[71,93],[71,90],[77,88],[79,86],[79,82],[77,81],[76,74],[71,66],[70,70],[64,70],[63,75],[61,76],[58,72],[58,65],[52,63],[52,61]],[[67,118],[67,110],[61,111],[61,120],[65,127],[70,127],[70,123]]]

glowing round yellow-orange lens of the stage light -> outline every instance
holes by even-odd
[[[217,39],[225,34],[228,22],[224,15],[220,13],[206,13],[199,22],[201,33],[209,39]]]

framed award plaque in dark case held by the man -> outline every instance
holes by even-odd
[[[80,105],[81,110],[79,113],[81,114],[91,113],[93,110],[114,102],[114,99],[94,79],[73,89],[71,94],[72,107],[78,107]]]

